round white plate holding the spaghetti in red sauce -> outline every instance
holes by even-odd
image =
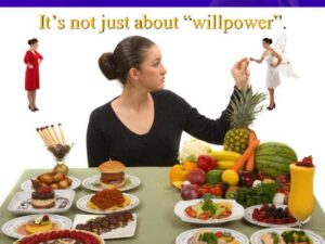
[[[104,214],[109,214],[109,213],[114,213],[114,211],[130,210],[132,208],[135,208],[140,203],[140,200],[135,195],[123,193],[123,195],[130,197],[130,200],[131,200],[131,203],[128,206],[126,206],[123,208],[115,209],[115,210],[105,210],[105,211],[104,210],[96,210],[96,209],[89,208],[87,206],[88,201],[90,201],[90,198],[94,194],[89,194],[89,195],[84,195],[81,198],[79,198],[76,203],[77,207],[80,210],[86,211],[86,213],[96,214],[96,215],[104,215]]]

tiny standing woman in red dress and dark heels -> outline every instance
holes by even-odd
[[[25,90],[27,91],[28,108],[31,112],[38,111],[36,106],[36,90],[39,89],[39,64],[43,60],[42,55],[37,52],[38,40],[32,38],[28,40],[30,46],[26,52],[24,62],[27,65],[25,76]]]

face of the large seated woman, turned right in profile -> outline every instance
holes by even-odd
[[[154,44],[146,51],[144,61],[138,69],[139,84],[150,91],[161,90],[166,73],[161,63],[160,50]]]

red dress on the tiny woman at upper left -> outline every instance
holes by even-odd
[[[25,64],[32,65],[32,68],[26,67],[26,76],[25,76],[25,90],[34,91],[39,89],[39,60],[42,60],[42,55],[37,51],[34,53],[31,51],[27,51],[24,57]]]

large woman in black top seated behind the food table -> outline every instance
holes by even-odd
[[[248,86],[249,61],[232,68],[236,86]],[[183,131],[209,143],[222,144],[230,129],[230,105],[213,120],[200,115],[184,99],[164,90],[166,68],[159,48],[131,36],[99,60],[109,80],[118,79],[122,92],[90,115],[87,131],[88,164],[96,167],[115,159],[127,166],[170,166],[177,163]]]

